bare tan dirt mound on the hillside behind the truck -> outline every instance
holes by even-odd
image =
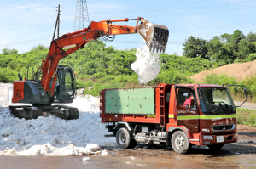
[[[212,70],[202,71],[194,76],[190,76],[195,82],[202,82],[208,74],[227,75],[233,76],[236,80],[243,80],[249,76],[256,74],[256,60],[247,63],[236,63],[230,65],[224,65]]]

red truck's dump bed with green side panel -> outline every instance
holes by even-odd
[[[160,84],[158,87],[102,90],[102,122],[125,121],[165,125],[168,121],[165,95],[166,91],[170,93],[170,87],[171,85]]]

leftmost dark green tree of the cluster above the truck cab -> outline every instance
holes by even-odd
[[[187,58],[203,58],[208,59],[207,57],[207,47],[206,47],[206,40],[203,40],[199,37],[189,37],[183,43],[183,56]]]

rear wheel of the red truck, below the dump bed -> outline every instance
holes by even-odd
[[[125,127],[119,128],[116,133],[116,143],[121,149],[133,149],[137,145],[137,142],[131,138],[130,132]]]

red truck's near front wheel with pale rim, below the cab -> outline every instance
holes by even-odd
[[[185,154],[190,149],[189,138],[182,131],[177,131],[172,134],[172,149],[178,154]]]

